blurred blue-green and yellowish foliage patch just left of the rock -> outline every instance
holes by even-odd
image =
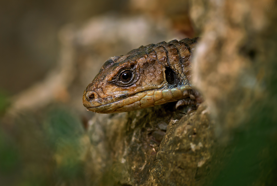
[[[47,114],[43,126],[47,142],[55,151],[58,175],[65,180],[82,177],[81,122],[64,110],[54,109]]]

